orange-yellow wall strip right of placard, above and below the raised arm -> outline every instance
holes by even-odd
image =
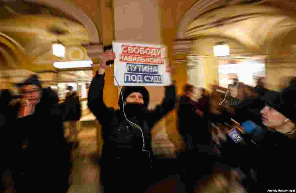
[[[177,93],[181,93],[184,84],[187,83],[186,64],[174,64],[174,59],[185,58],[186,55],[174,56],[173,42],[176,40],[176,33],[179,21],[184,13],[195,3],[195,0],[170,1],[160,0],[161,34],[162,43],[167,46],[167,57],[174,68],[173,79],[176,81]],[[176,110],[168,114],[166,118],[166,130],[169,139],[173,142],[176,150],[180,150],[182,140],[177,129]]]

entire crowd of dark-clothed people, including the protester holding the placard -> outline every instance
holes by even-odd
[[[99,70],[88,93],[88,107],[102,126],[104,145],[100,164],[102,191],[145,192],[155,183],[152,173],[151,129],[174,108],[183,148],[176,162],[184,192],[267,192],[295,187],[289,173],[295,172],[292,150],[296,137],[296,86],[291,81],[281,93],[265,88],[259,79],[252,88],[232,79],[223,96],[215,102],[215,91],[184,85],[176,100],[173,81],[165,86],[161,104],[148,110],[149,92],[143,86],[124,86],[119,109],[103,100],[107,61],[112,51],[94,64]],[[167,64],[166,72],[172,76]],[[36,192],[66,192],[69,188],[70,149],[63,122],[78,121],[81,107],[77,93],[68,88],[64,103],[57,94],[43,88],[36,75],[17,85],[21,95],[1,92],[0,126],[3,176],[12,181],[3,186]],[[112,96],[110,96],[112,97]],[[217,103],[217,104],[215,104]],[[291,158],[291,159],[290,159]],[[225,173],[226,172],[226,173]],[[99,179],[98,179],[99,180]],[[215,190],[211,187],[215,184]],[[3,187],[3,189],[8,187]]]

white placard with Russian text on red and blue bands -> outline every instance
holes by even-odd
[[[166,47],[113,42],[114,75],[120,86],[165,86],[170,82]],[[118,85],[114,79],[114,85]]]

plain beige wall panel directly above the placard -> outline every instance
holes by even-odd
[[[116,41],[161,43],[157,0],[114,0]]]

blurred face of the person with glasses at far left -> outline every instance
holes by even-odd
[[[41,88],[36,85],[26,85],[22,88],[23,98],[28,99],[29,103],[36,104],[41,97]]]

